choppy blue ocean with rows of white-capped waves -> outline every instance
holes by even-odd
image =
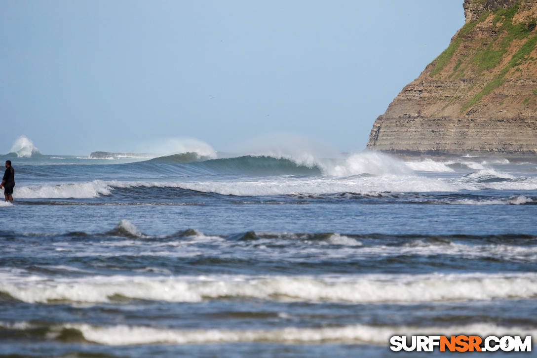
[[[389,350],[412,334],[535,345],[534,161],[11,160],[2,357],[419,356]]]

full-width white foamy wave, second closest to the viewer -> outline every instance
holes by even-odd
[[[166,302],[265,299],[303,302],[418,303],[537,297],[537,274],[309,276],[93,276],[3,274],[0,292],[28,303],[108,303],[117,297]]]

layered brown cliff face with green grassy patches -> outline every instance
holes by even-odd
[[[376,119],[388,152],[537,154],[537,0],[465,0],[449,47]]]

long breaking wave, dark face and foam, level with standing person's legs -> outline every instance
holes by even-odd
[[[537,189],[535,181],[495,183],[496,189]],[[505,185],[505,188],[502,186]],[[535,204],[535,198],[527,195],[490,197],[460,194],[434,194],[435,192],[458,192],[479,190],[480,187],[466,181],[442,181],[417,176],[360,176],[346,179],[337,178],[266,178],[264,180],[219,180],[219,181],[180,181],[180,182],[128,182],[128,181],[91,181],[64,183],[56,185],[21,186],[14,188],[14,196],[20,199],[69,199],[119,196],[145,199],[153,198],[170,201],[181,198],[202,198],[204,195],[233,196],[285,196],[284,199],[383,199],[422,204],[451,205],[521,205]],[[158,190],[157,190],[158,189]],[[24,203],[24,202],[23,202]],[[132,203],[132,204],[136,204]],[[168,202],[167,202],[168,203]],[[243,202],[237,202],[243,203]],[[245,202],[248,203],[248,202]],[[98,203],[91,203],[97,205]],[[108,203],[111,204],[111,203]],[[172,204],[172,203],[170,203]],[[89,203],[88,203],[89,205]]]

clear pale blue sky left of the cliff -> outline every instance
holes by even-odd
[[[0,153],[23,134],[45,154],[272,133],[360,151],[462,3],[3,1]]]

